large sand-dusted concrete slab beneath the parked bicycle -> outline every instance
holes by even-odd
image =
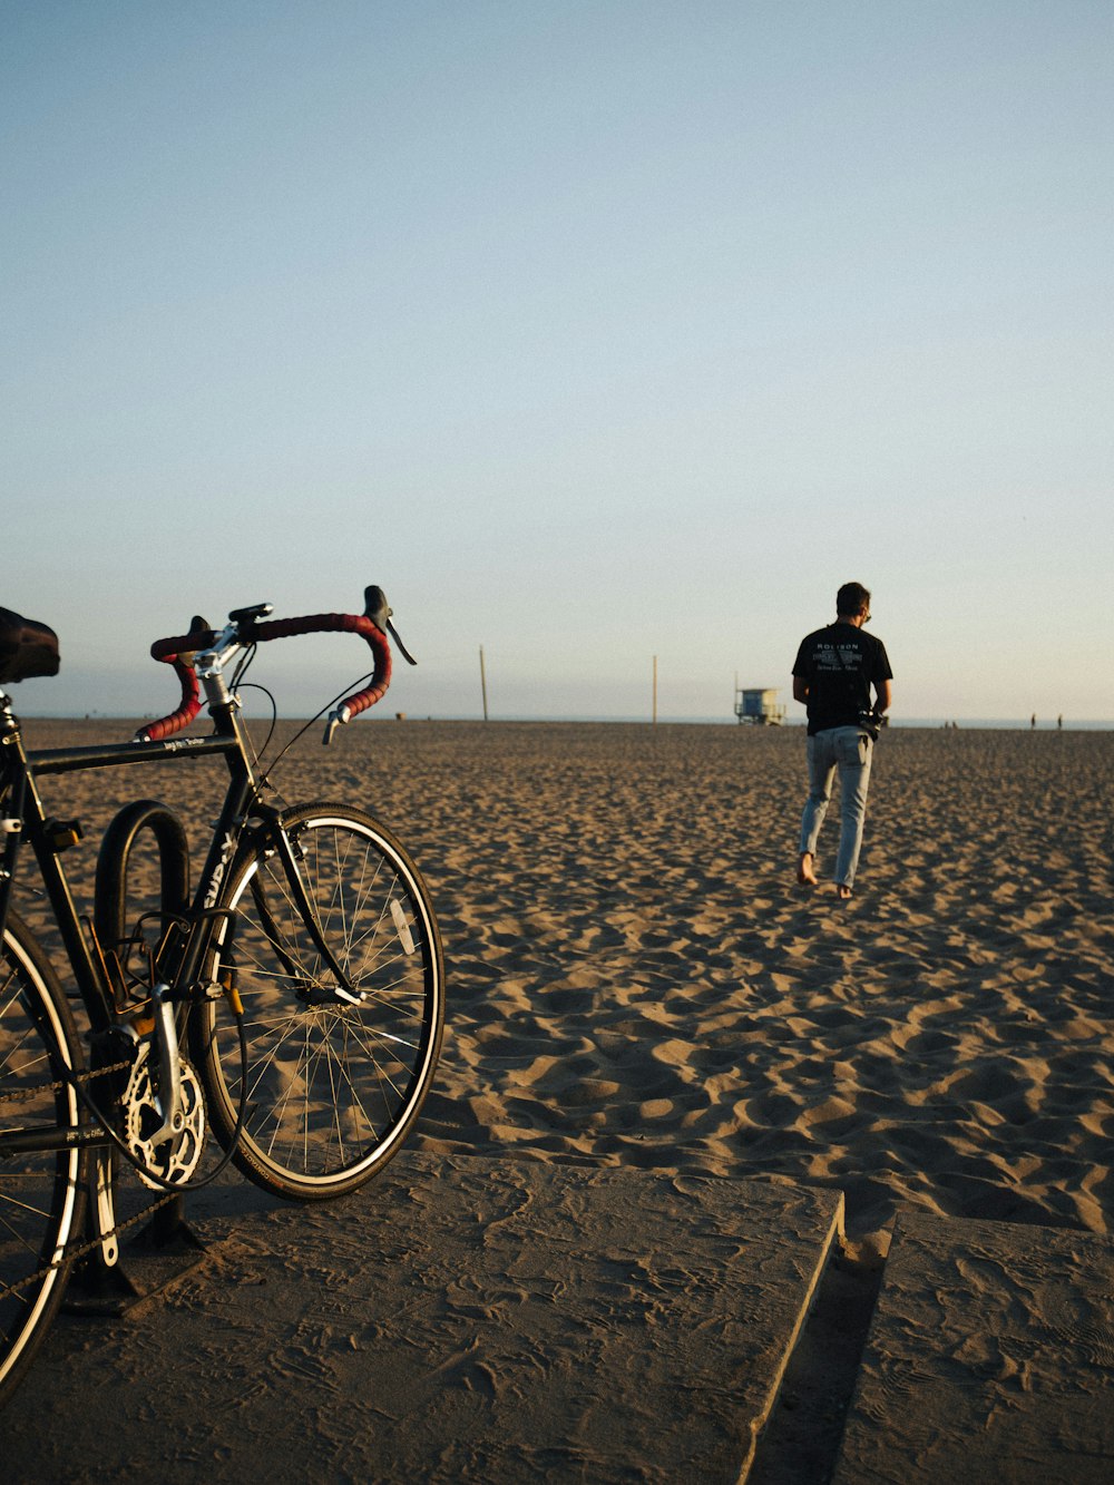
[[[829,1189],[416,1151],[211,1209],[156,1308],[58,1323],[13,1485],[737,1481],[842,1224]]]

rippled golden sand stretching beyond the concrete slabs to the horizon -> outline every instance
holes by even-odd
[[[364,719],[278,778],[379,814],[429,882],[449,1022],[417,1148],[836,1187],[864,1262],[903,1206],[1111,1231],[1110,734],[891,729],[851,903],[793,879],[801,728]],[[49,783],[85,884],[137,793],[201,849],[221,774]]]

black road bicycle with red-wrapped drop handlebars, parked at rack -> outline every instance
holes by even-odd
[[[263,642],[361,636],[373,670],[330,713],[328,742],[385,693],[388,634],[413,659],[379,588],[367,590],[362,615],[267,622],[270,612],[233,610],[220,631],[195,618],[187,634],[156,642],[152,655],[177,673],[181,702],[131,742],[27,751],[4,686],[56,674],[56,639],[0,610],[0,1403],[42,1344],[76,1259],[119,1258],[120,1161],[163,1201],[230,1161],[282,1198],[339,1197],[383,1169],[429,1090],[444,965],[425,882],[362,809],[269,802],[275,763],[264,768],[254,750],[238,695]],[[212,732],[178,738],[202,691]],[[193,892],[181,820],[137,800],[105,833],[94,913],[80,916],[62,864],[80,827],[48,814],[40,781],[198,757],[224,759],[229,783]],[[157,846],[160,906],[129,922],[140,838]],[[12,907],[24,843],[61,934],[82,1035],[71,996]],[[208,1130],[223,1157],[202,1181]]]

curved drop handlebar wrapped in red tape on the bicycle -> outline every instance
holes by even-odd
[[[189,634],[156,640],[152,644],[152,656],[174,668],[181,685],[181,702],[169,716],[160,717],[157,722],[149,722],[140,728],[135,734],[135,741],[160,742],[163,738],[181,732],[183,728],[187,728],[193,722],[201,711],[201,691],[195,668],[198,656],[211,650],[223,637],[229,640],[230,649],[235,650],[260,642],[288,639],[293,634],[359,634],[374,655],[371,680],[367,686],[346,696],[337,705],[336,711],[331,713],[330,728],[325,734],[325,741],[328,741],[337,723],[351,722],[352,717],[358,717],[361,711],[374,705],[391,685],[391,646],[386,639],[386,630],[394,636],[405,659],[411,665],[416,664],[395,634],[395,628],[391,624],[391,609],[386,604],[383,590],[368,588],[364,597],[367,610],[364,613],[310,613],[299,619],[258,622],[255,615],[269,612],[266,607],[255,610],[242,609],[230,618],[229,628],[224,631],[211,630],[203,619],[195,618]]]

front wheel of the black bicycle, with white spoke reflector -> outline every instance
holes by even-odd
[[[288,1200],[339,1197],[398,1151],[437,1068],[444,959],[425,882],[371,815],[310,803],[282,817],[330,952],[361,1004],[330,974],[266,839],[235,860],[220,906],[233,930],[212,979],[235,965],[248,1048],[236,1142],[241,1041],[226,1001],[193,1019],[193,1053],[214,1133],[257,1185]]]

